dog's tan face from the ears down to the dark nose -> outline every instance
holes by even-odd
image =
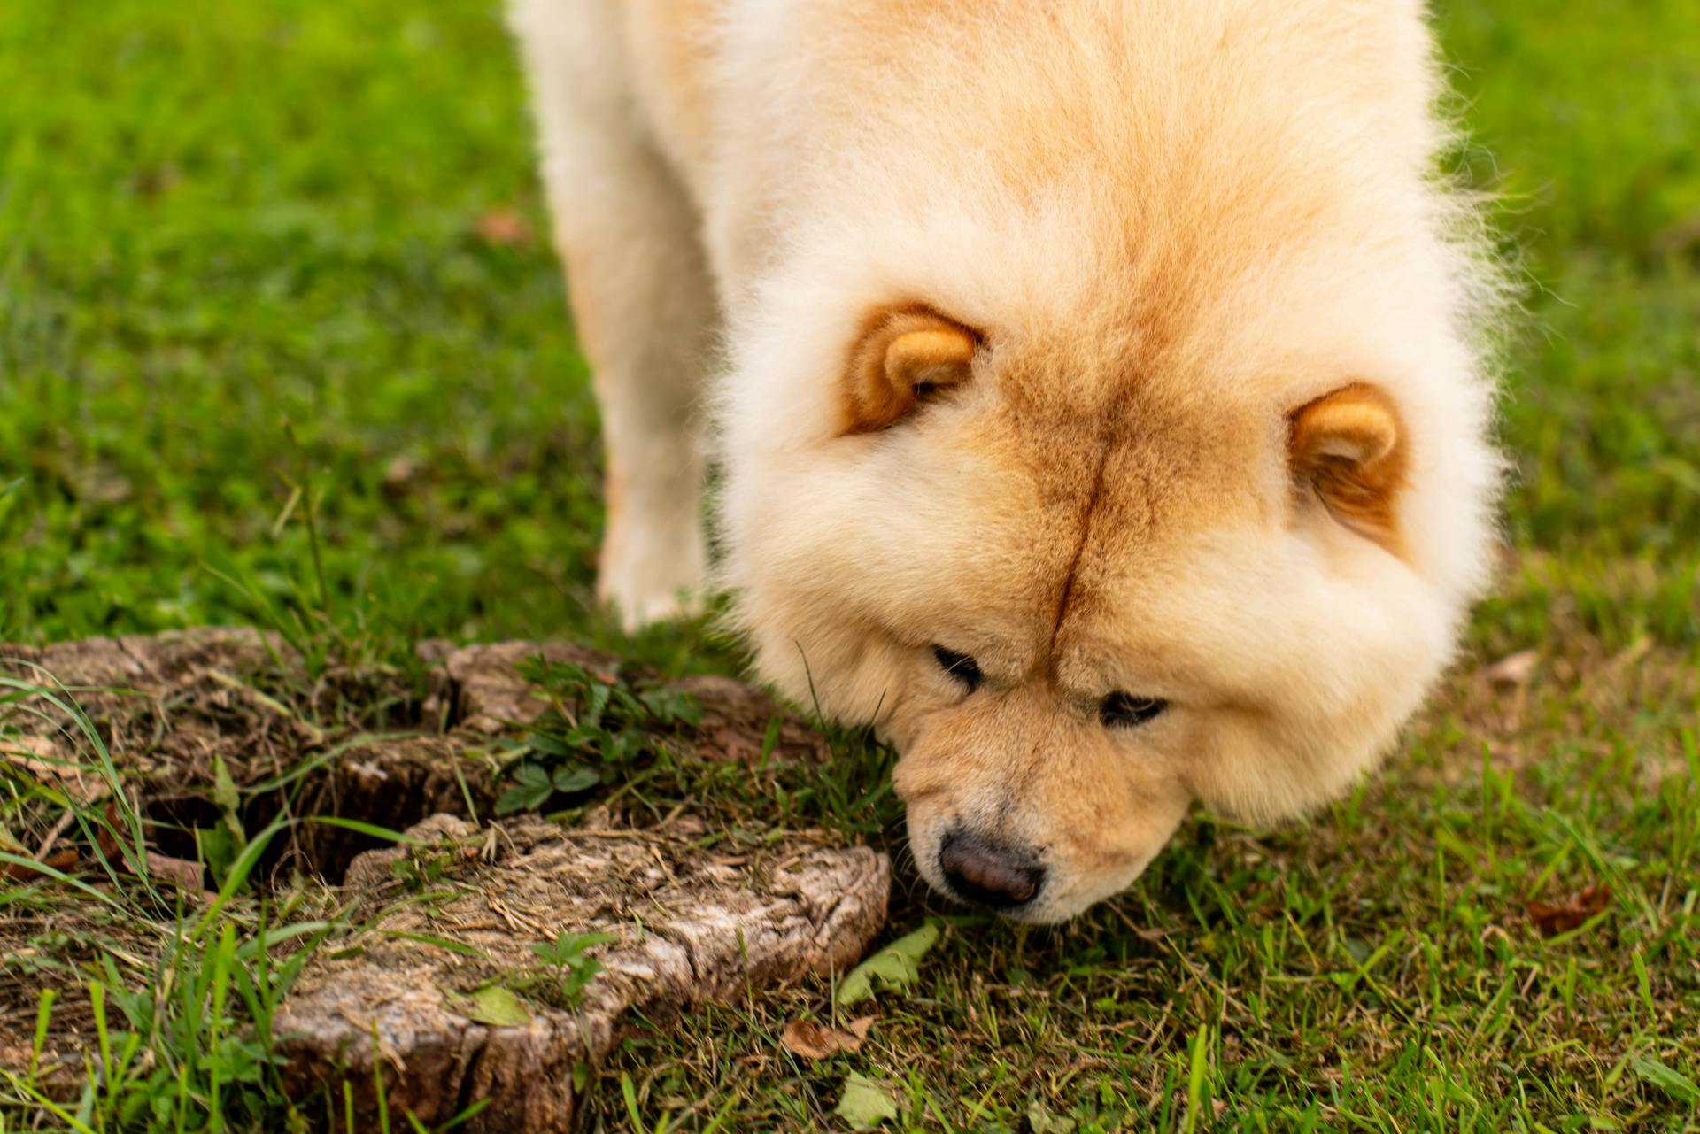
[[[1448,515],[1421,481],[1491,481],[1476,410],[1448,445],[1374,374],[1117,379],[915,306],[848,354],[843,432],[734,481],[741,610],[782,689],[898,746],[938,889],[1071,916],[1193,799],[1340,792],[1443,666],[1482,483]]]

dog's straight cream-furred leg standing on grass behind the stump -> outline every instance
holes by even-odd
[[[688,612],[704,585],[697,403],[714,289],[695,211],[631,121],[619,77],[571,58],[583,43],[561,44],[559,58],[547,58],[547,36],[525,46],[556,245],[602,410],[597,595],[636,629]]]

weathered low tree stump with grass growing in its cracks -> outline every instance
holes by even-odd
[[[167,876],[155,862],[168,864],[190,908],[212,882],[197,864],[196,831],[233,814],[250,835],[279,814],[408,826],[406,842],[389,847],[299,821],[274,847],[287,842],[287,853],[255,876],[269,886],[291,869],[318,874],[355,903],[345,918],[355,928],[308,962],[274,1022],[287,1085],[347,1081],[355,1127],[376,1129],[376,1061],[393,1125],[405,1110],[440,1124],[490,1098],[466,1129],[563,1131],[575,1069],[609,1052],[629,1010],[653,1022],[852,966],[886,920],[891,865],[867,847],[809,833],[736,853],[706,850],[690,816],[622,826],[592,811],[575,828],[537,816],[478,828],[469,816],[488,819],[503,787],[505,734],[547,706],[515,672],[537,655],[598,673],[619,668],[571,644],[423,643],[418,690],[382,672],[309,680],[287,644],[243,629],[0,644],[0,673],[42,690],[0,706],[0,762],[7,775],[49,784],[92,811],[122,791],[150,825],[146,865],[136,869],[158,884]],[[620,675],[660,680],[632,666]],[[677,736],[695,755],[751,763],[828,755],[819,733],[743,682],[670,685],[702,709],[700,724]],[[338,716],[372,700],[393,706],[394,728],[367,731]],[[90,731],[116,782],[92,758]],[[60,830],[48,843],[65,848],[82,828]],[[99,882],[94,850],[78,853],[73,870]],[[0,918],[0,1066],[27,1066],[41,989],[56,988],[36,1081],[63,1095],[80,1090],[92,1049],[82,974],[95,974],[88,942],[100,933],[63,933],[97,911],[60,889],[63,899],[41,911],[19,904]],[[146,916],[131,930],[100,930],[122,933],[138,972],[170,937]],[[563,932],[612,937],[592,949],[602,971],[581,995],[563,991],[559,967],[534,949]],[[82,944],[39,964],[60,940]],[[505,1018],[479,1000],[490,989],[502,989]]]

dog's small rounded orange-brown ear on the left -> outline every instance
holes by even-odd
[[[850,350],[843,432],[886,428],[928,394],[966,383],[976,350],[979,335],[926,308],[874,313]]]

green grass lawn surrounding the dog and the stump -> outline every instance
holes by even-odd
[[[1527,272],[1516,554],[1389,770],[1307,826],[1198,818],[1074,925],[947,920],[857,1056],[777,1042],[833,1012],[824,984],[646,1034],[588,1129],[831,1124],[850,1073],[926,1131],[1700,1129],[1700,12],[1440,0],[1438,24],[1460,163]],[[442,634],[736,665],[699,627],[626,641],[590,600],[595,406],[559,274],[546,240],[476,233],[547,228],[493,3],[10,0],[0,92],[0,639],[265,622],[360,663]],[[1530,685],[1476,677],[1520,649]],[[860,801],[865,835],[898,823],[865,796],[884,758],[847,741],[821,784],[755,784],[772,799],[665,785],[750,821]],[[8,791],[17,833],[58,814]],[[1600,918],[1533,932],[1527,901],[1593,884]],[[126,903],[112,933],[177,940],[175,910]],[[901,870],[891,935],[942,915]],[[180,995],[139,1027],[138,974],[107,978],[112,1032],[165,1052],[117,1078],[177,1074],[143,1097],[192,1086],[184,1129],[226,1095],[233,1127],[277,1129],[264,1074],[221,1095],[192,1057],[267,1012],[258,906],[214,921],[158,954]],[[82,1120],[121,1129],[119,1095]],[[0,1131],[32,1122],[58,1124],[0,1100]]]

